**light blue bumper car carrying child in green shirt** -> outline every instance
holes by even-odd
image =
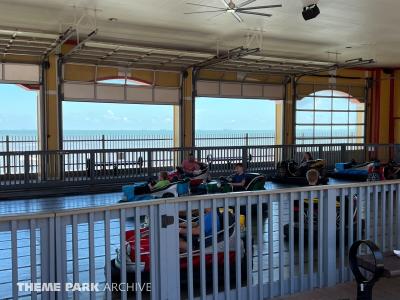
[[[188,180],[172,182],[163,188],[154,190],[149,190],[147,183],[137,183],[123,186],[122,193],[122,202],[186,196],[189,194],[189,182]]]

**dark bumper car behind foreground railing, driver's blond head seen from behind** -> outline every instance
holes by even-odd
[[[352,197],[353,201],[353,213],[351,217],[351,222],[353,222],[353,236],[357,236],[357,200],[358,200],[358,195],[355,194]],[[304,200],[304,239],[308,239],[308,223],[310,218],[312,218],[312,224],[313,224],[313,236],[314,236],[314,242],[318,240],[318,198],[312,199],[313,201],[313,211],[309,211],[309,199]],[[294,224],[293,224],[293,234],[294,234],[294,239],[299,240],[299,233],[300,233],[300,220],[299,220],[299,215],[300,215],[300,204],[299,201],[294,202]],[[340,230],[340,199],[336,200],[336,237],[339,238],[339,230]],[[345,226],[345,241],[347,241],[347,234],[348,234],[348,228],[349,228],[349,198],[346,196],[345,197],[345,221],[344,221],[344,226]],[[362,220],[362,230],[364,230],[364,220]],[[289,224],[284,225],[284,236],[285,239],[289,238]]]

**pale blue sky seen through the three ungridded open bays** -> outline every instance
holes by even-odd
[[[36,130],[37,92],[0,84],[0,130]],[[271,130],[275,102],[198,98],[198,130]],[[63,103],[64,130],[173,130],[171,105]]]

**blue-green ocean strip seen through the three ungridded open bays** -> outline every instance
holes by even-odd
[[[173,147],[172,130],[65,130],[65,150]],[[0,130],[0,152],[38,150],[35,130]],[[199,130],[196,146],[274,145],[274,130]]]

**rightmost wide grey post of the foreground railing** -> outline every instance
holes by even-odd
[[[336,190],[324,192],[323,201],[323,245],[325,286],[336,285]]]

